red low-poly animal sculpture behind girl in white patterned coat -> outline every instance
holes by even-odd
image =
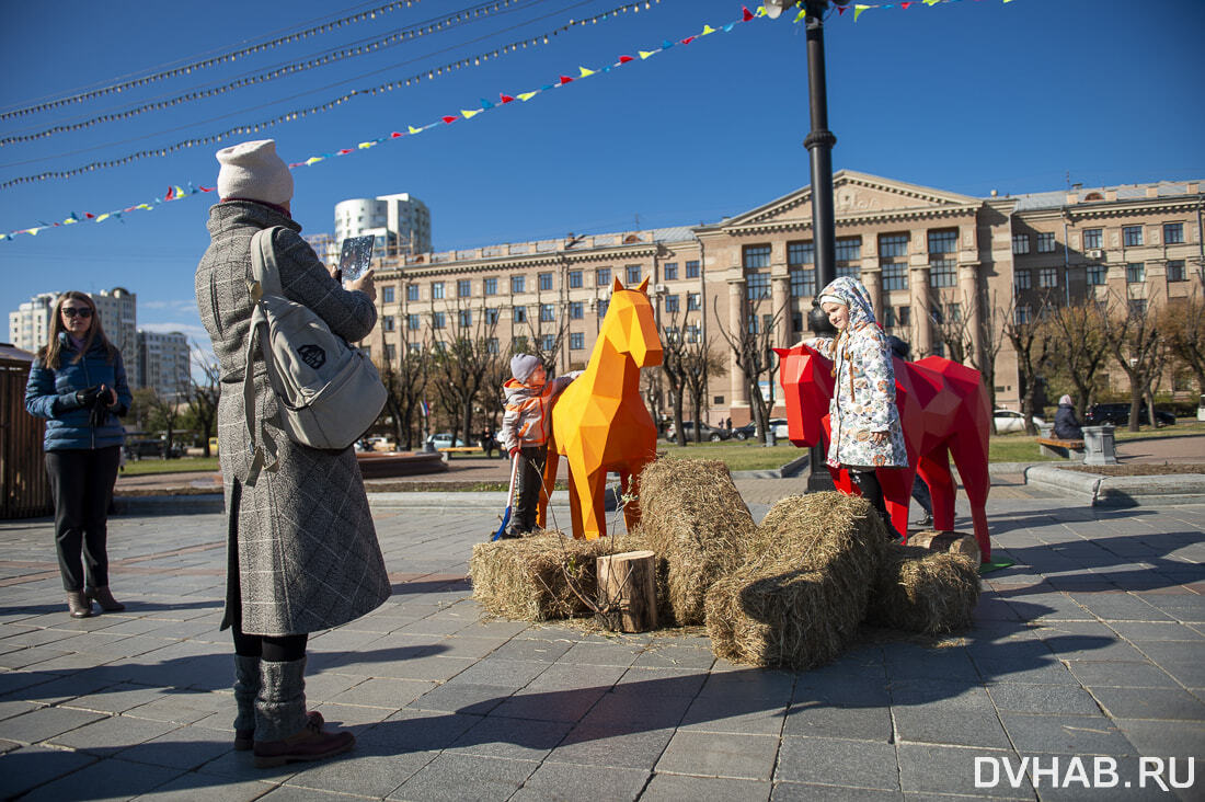
[[[790,350],[776,349],[778,376],[787,400],[787,433],[798,446],[828,445],[831,437],[829,399],[833,397],[833,363],[804,344]],[[950,457],[958,467],[970,502],[975,539],[983,562],[992,556],[987,531],[987,494],[992,481],[987,473],[987,447],[992,406],[978,370],[941,357],[917,362],[893,358],[895,405],[899,408],[907,446],[907,468],[880,469],[875,474],[892,525],[907,532],[912,478],[919,473],[933,496],[933,526],[954,528],[954,481]],[[853,492],[848,473],[829,468],[842,492]]]

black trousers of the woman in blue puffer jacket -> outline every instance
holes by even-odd
[[[67,592],[108,586],[108,502],[120,449],[111,445],[46,452],[46,473],[54,494],[54,548]]]

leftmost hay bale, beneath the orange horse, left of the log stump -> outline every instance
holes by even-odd
[[[595,557],[628,551],[629,545],[627,538],[576,540],[547,529],[517,540],[477,543],[469,560],[472,597],[487,611],[518,621],[592,615],[578,593],[598,598]]]

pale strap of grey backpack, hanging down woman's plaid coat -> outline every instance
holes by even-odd
[[[251,276],[247,282],[247,291],[251,293],[252,304],[251,328],[247,332],[247,362],[242,375],[242,405],[247,417],[247,435],[251,440],[251,467],[247,469],[245,482],[248,487],[254,487],[263,470],[276,470],[280,467],[280,458],[276,452],[276,441],[268,431],[263,420],[255,420],[255,381],[253,376],[253,362],[255,349],[259,347],[264,361],[271,358],[268,344],[268,316],[264,312],[263,298],[268,293],[281,294],[281,274],[276,267],[276,248],[272,246],[272,235],[276,229],[266,228],[255,232],[251,238]],[[269,370],[269,373],[271,373]],[[255,443],[257,428],[259,431],[259,444]]]

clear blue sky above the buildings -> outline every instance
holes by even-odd
[[[383,5],[5,4],[0,112],[118,76],[228,52]],[[477,5],[422,0],[233,64],[0,121],[0,137],[111,113],[258,72],[322,49]],[[424,72],[623,5],[516,0],[505,13],[374,54],[208,100],[0,147],[0,182],[200,137],[234,124]],[[756,4],[750,4],[756,8]],[[277,140],[289,162],[354,147],[462,109],[598,69],[663,40],[740,19],[731,0],[662,0],[417,87],[358,98],[237,136]],[[510,30],[504,30],[510,29]],[[971,195],[1205,177],[1200,75],[1205,1],[962,0],[852,11],[827,27],[835,169]],[[472,42],[471,40],[480,40]],[[436,250],[641,227],[713,222],[809,181],[804,35],[788,16],[737,25],[592,76],[294,172],[294,216],[330,232],[347,198],[410,192],[431,209]],[[208,54],[208,55],[205,55]],[[0,232],[148,201],[171,185],[211,186],[221,146],[0,189]],[[212,195],[0,242],[0,311],[39,292],[124,286],[139,323],[204,338],[193,271]]]

